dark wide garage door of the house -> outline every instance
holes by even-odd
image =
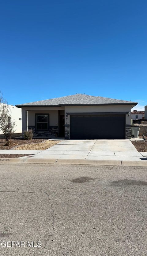
[[[125,115],[70,115],[71,139],[125,139]]]

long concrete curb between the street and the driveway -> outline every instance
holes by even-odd
[[[109,166],[142,166],[147,167],[147,161],[118,160],[83,160],[83,159],[47,159],[47,158],[0,158],[0,163],[28,164],[78,164],[78,165],[109,165]]]

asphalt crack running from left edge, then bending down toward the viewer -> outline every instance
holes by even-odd
[[[51,209],[51,216],[52,216],[52,231],[51,231],[51,234],[49,234],[47,236],[47,239],[45,240],[45,246],[47,245],[47,241],[49,240],[49,237],[50,236],[53,236],[54,235],[54,231],[55,231],[55,216],[54,216],[54,209],[53,209],[53,206],[52,206],[52,203],[50,202],[51,201],[51,198],[49,197],[49,195],[47,194],[47,192],[44,190],[44,191],[19,191],[19,189],[17,189],[17,191],[13,190],[13,191],[0,191],[0,193],[22,193],[22,194],[25,194],[25,193],[28,193],[28,194],[33,194],[33,193],[43,193],[45,195],[47,195],[47,198],[48,198],[48,202],[50,204],[50,209]]]

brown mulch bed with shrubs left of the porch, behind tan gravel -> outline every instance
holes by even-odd
[[[44,141],[43,139],[32,139],[32,140],[23,140],[23,139],[11,139],[10,145],[5,146],[6,139],[0,139],[0,149],[11,149],[14,146],[19,146],[23,144],[32,144],[32,143],[39,143]]]

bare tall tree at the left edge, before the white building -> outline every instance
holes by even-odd
[[[15,130],[15,122],[11,121],[11,113],[7,101],[3,98],[0,92],[0,130],[3,131],[5,135],[7,145],[9,145],[9,140],[12,138],[12,134]]]

